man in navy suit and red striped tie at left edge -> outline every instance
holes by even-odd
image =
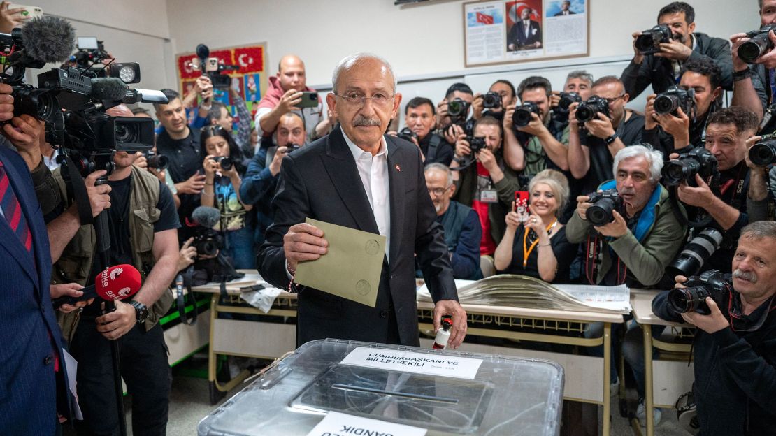
[[[11,91],[0,85],[3,121],[13,117]],[[23,117],[3,126],[14,144],[35,134],[25,121],[32,117]],[[37,136],[32,142],[39,147]],[[35,167],[20,154],[21,147],[0,145],[0,434],[55,434],[57,414],[71,415],[67,373],[51,306],[48,234],[29,173]]]

